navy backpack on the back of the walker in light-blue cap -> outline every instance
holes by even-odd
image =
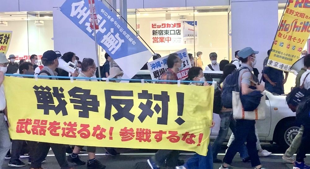
[[[239,72],[242,69],[248,69],[248,68],[241,67],[239,70],[234,70],[224,80],[221,94],[221,101],[224,108],[232,108],[232,91],[239,92],[238,78],[239,78]]]

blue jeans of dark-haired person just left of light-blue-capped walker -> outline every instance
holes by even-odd
[[[233,119],[232,112],[220,112],[219,117],[221,118],[219,135],[216,137],[212,145],[213,159],[217,158],[217,154],[219,153],[219,150],[227,137],[229,128],[232,130],[232,133],[235,133],[236,129],[236,121]],[[249,157],[245,144],[242,145],[238,152],[240,153],[241,158]]]

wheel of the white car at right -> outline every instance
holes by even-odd
[[[294,138],[298,134],[299,127],[294,121],[289,121],[280,128],[278,133],[278,143],[283,149],[289,148]]]

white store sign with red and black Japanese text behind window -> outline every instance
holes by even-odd
[[[151,44],[193,44],[198,43],[197,21],[151,21]]]

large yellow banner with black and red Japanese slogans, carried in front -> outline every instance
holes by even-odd
[[[12,139],[207,153],[212,86],[5,77],[4,88]]]

